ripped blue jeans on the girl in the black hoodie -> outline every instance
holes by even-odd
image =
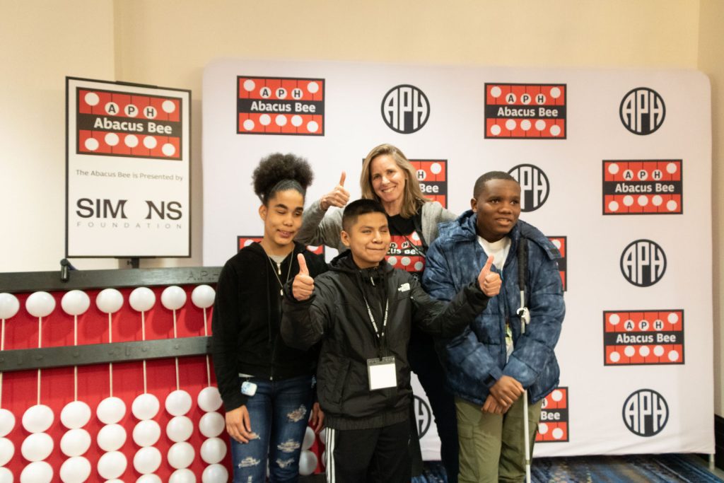
[[[312,377],[243,380],[256,384],[256,394],[246,408],[257,437],[248,443],[231,440],[234,483],[266,482],[267,455],[271,483],[298,481],[299,455],[312,406]]]

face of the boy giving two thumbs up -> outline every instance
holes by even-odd
[[[379,265],[390,248],[387,217],[379,212],[359,215],[349,230],[342,230],[342,243],[350,248],[352,259],[361,269]]]

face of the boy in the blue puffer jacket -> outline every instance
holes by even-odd
[[[521,185],[512,180],[488,180],[478,198],[471,200],[471,207],[478,214],[478,235],[489,242],[500,240],[521,216]]]

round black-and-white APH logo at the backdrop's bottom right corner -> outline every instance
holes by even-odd
[[[633,434],[651,437],[659,434],[669,420],[669,406],[658,392],[640,389],[623,403],[623,423]]]

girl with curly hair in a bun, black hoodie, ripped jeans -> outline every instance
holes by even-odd
[[[311,167],[292,154],[271,154],[253,172],[264,238],[232,256],[219,275],[212,354],[231,437],[234,482],[296,482],[310,413],[316,431],[324,415],[313,404],[314,350],[287,347],[279,336],[283,286],[299,272],[324,272],[321,257],[296,243]]]

